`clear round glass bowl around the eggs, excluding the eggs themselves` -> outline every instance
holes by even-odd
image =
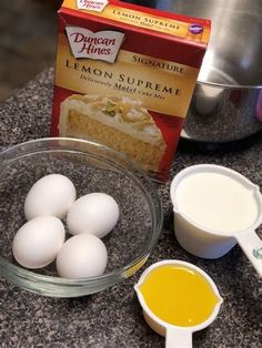
[[[18,265],[12,256],[13,236],[26,223],[24,198],[39,178],[51,173],[68,176],[78,197],[103,192],[119,204],[120,219],[103,238],[109,262],[102,276],[66,279],[57,275],[56,263],[32,272]],[[108,288],[147,262],[158,242],[162,219],[154,185],[133,162],[109,147],[50,137],[0,153],[0,276],[21,288],[51,297],[78,297]]]

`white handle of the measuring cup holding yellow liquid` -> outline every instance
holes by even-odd
[[[191,348],[192,332],[187,329],[168,327],[165,334],[165,348]]]

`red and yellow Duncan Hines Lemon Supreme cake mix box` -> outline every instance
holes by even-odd
[[[119,0],[66,0],[51,135],[105,144],[164,181],[209,35],[209,20]]]

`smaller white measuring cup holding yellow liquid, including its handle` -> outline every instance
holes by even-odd
[[[192,286],[192,284],[190,286],[190,284],[185,282],[187,276],[180,278],[177,277],[175,274],[172,274],[172,272],[171,274],[167,273],[165,269],[164,273],[162,273],[161,278],[155,278],[154,280],[152,280],[150,276],[153,276],[155,270],[161,270],[161,268],[163,268],[164,266],[179,268],[181,267],[187,269],[187,272],[189,273],[198,274],[199,277],[202,277],[201,282],[204,283],[204,288],[196,288],[199,286],[198,284],[200,284],[199,279],[195,283],[195,286]],[[170,283],[169,280],[172,282]],[[143,289],[143,285],[145,284],[147,286],[147,282],[151,282],[149,284],[149,291],[147,291],[147,289]],[[158,284],[158,282],[160,282],[160,284]],[[172,287],[170,287],[171,284],[173,284]],[[177,288],[179,290],[177,290]],[[161,336],[165,336],[167,348],[192,347],[193,332],[201,330],[213,323],[219,314],[221,304],[223,301],[214,282],[206,273],[190,263],[174,259],[158,262],[148,267],[141,275],[138,284],[134,286],[134,289],[137,291],[140,305],[143,309],[145,321],[155,332]],[[210,291],[209,298],[210,296],[211,298],[213,297],[212,304],[210,304],[208,310],[204,311],[203,318],[198,318],[196,321],[193,321],[193,325],[190,325],[191,318],[193,318],[194,313],[196,313],[196,308],[193,308],[192,303],[194,300],[194,296],[198,306],[204,306],[205,301],[208,301],[206,291]],[[149,298],[151,295],[153,296],[152,299]],[[201,296],[203,296],[202,300]],[[178,298],[179,304],[172,306],[173,298],[175,297]],[[171,316],[172,314],[175,315],[174,321],[172,319],[167,319],[167,316],[164,316],[162,313],[159,313],[159,310],[154,308],[152,301],[154,301],[155,298],[160,300],[160,306],[162,308],[165,307]],[[189,307],[192,307],[193,309],[189,310]],[[174,313],[175,310],[178,311],[177,314]],[[184,323],[182,326],[181,320],[183,319],[180,319],[180,317],[184,317],[183,310],[185,313],[187,310],[189,310],[190,314],[187,313],[187,316],[189,316],[189,318],[187,319],[187,323]],[[174,325],[175,321],[180,325]]]

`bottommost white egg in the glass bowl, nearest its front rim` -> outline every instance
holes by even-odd
[[[58,274],[64,278],[95,277],[104,273],[108,252],[103,242],[92,234],[69,238],[57,257]]]

